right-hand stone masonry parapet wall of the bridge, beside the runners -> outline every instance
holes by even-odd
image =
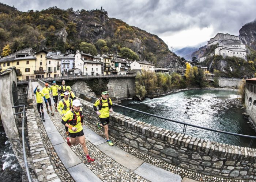
[[[95,124],[93,104],[83,104],[85,121]],[[145,153],[185,169],[207,175],[236,179],[256,179],[256,149],[231,146],[159,128],[113,112],[111,136]]]

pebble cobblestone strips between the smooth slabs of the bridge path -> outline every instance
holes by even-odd
[[[54,116],[51,116],[50,114],[49,116],[52,122],[54,123],[54,125],[56,126],[57,130],[60,132],[63,139],[66,141],[65,128],[64,128],[64,125],[61,123],[61,116],[59,112],[55,112],[54,106],[53,106],[53,111],[54,111]],[[36,115],[37,115],[39,130],[41,131],[42,138],[45,141],[44,142],[45,148],[50,157],[50,161],[52,162],[54,170],[56,171],[61,181],[74,181],[74,179],[68,173],[67,169],[65,169],[63,163],[60,161],[52,144],[50,143],[49,138],[44,130],[44,126],[41,123],[39,114],[36,109],[35,109],[35,112],[37,113]],[[44,103],[44,112],[46,112],[45,103]],[[87,123],[86,121],[85,121],[85,125],[91,130],[93,130],[94,132],[96,132],[101,137],[105,138],[103,130],[98,130],[97,127],[95,127],[93,124]],[[128,153],[142,159],[147,163],[150,163],[154,166],[165,169],[167,171],[171,171],[172,173],[178,174],[182,178],[187,177],[197,181],[237,181],[237,182],[244,181],[244,180],[237,180],[237,179],[231,179],[231,178],[218,178],[215,176],[204,175],[204,174],[196,173],[194,171],[189,171],[187,169],[183,169],[181,167],[167,163],[161,159],[155,158],[151,155],[145,154],[142,151],[135,149],[131,146],[128,146],[127,144],[121,141],[118,141],[117,139],[114,139],[111,136],[110,136],[110,139],[112,140],[114,145],[116,145],[120,149],[127,151]],[[95,147],[92,143],[87,141],[87,139],[86,139],[86,145],[89,150],[90,156],[92,158],[95,158],[94,162],[87,163],[87,161],[85,160],[86,156],[84,155],[84,152],[80,145],[71,146],[71,149],[86,164],[86,166],[89,167],[89,169],[93,171],[93,173],[96,174],[102,181],[104,182],[106,181],[125,181],[125,182],[148,181],[147,179],[144,179],[143,177],[140,177],[139,175],[133,173],[132,170],[129,170],[124,166],[120,165],[119,163],[117,163],[116,161],[108,157],[106,154],[102,153],[97,147]]]

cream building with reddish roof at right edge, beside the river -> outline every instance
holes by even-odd
[[[256,78],[246,79],[245,109],[256,126]]]

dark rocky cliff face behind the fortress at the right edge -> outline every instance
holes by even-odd
[[[256,50],[256,20],[242,26],[239,30],[239,38],[242,43]]]

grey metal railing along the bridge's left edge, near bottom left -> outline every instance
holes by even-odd
[[[23,149],[23,159],[24,159],[24,163],[25,163],[27,178],[28,178],[29,182],[32,182],[32,179],[31,179],[31,176],[30,176],[30,172],[29,172],[29,165],[27,163],[26,149],[25,149],[25,140],[26,140],[27,147],[30,150],[29,142],[27,141],[26,136],[25,136],[25,132],[24,132],[25,105],[14,106],[12,108],[19,108],[19,107],[23,107],[23,111],[22,112],[14,113],[14,115],[20,114],[22,116],[22,149]]]

